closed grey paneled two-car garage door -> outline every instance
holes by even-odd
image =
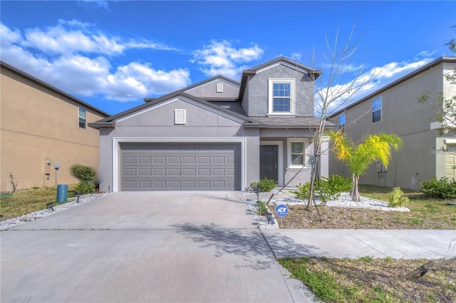
[[[121,143],[128,190],[240,190],[239,143]]]

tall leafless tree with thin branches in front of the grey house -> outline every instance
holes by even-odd
[[[339,48],[338,41],[340,27],[336,31],[336,37],[333,44],[331,44],[328,40],[328,35],[325,35],[326,46],[328,47],[328,54],[325,53],[325,59],[331,67],[329,68],[326,76],[319,77],[318,79],[314,78],[316,95],[318,97],[316,102],[316,113],[320,118],[314,135],[314,155],[311,155],[311,188],[309,193],[309,202],[307,204],[307,210],[309,211],[312,210],[312,204],[314,203],[314,189],[317,177],[318,158],[321,153],[325,152],[325,150],[321,150],[321,145],[323,140],[326,140],[326,121],[331,113],[350,103],[352,96],[368,83],[371,83],[373,78],[378,75],[375,72],[365,73],[363,63],[358,68],[355,76],[352,76],[351,79],[343,79],[343,77],[346,77],[348,71],[351,71],[348,60],[358,48],[359,38],[354,37],[355,29],[356,24],[351,29],[346,43],[343,44],[341,48]],[[345,84],[340,85],[338,83]]]

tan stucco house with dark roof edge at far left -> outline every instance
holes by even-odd
[[[17,68],[1,62],[0,190],[77,183],[71,165],[98,168],[98,130],[108,116]],[[58,170],[56,169],[58,168]]]

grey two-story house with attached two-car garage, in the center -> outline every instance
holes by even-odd
[[[100,129],[100,190],[244,190],[310,178],[321,71],[288,58],[183,88],[90,123]],[[328,155],[321,156],[322,175]]]

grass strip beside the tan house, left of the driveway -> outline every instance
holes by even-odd
[[[68,198],[75,196],[74,186],[68,185]],[[3,216],[1,220],[8,220],[30,212],[43,210],[46,208],[46,204],[56,202],[56,200],[56,186],[34,187],[27,190],[19,190],[11,195],[3,194],[0,197],[0,212]]]

